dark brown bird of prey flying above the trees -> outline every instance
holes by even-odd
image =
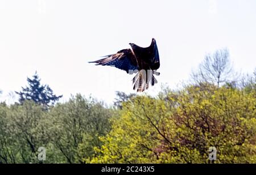
[[[102,66],[114,66],[125,70],[127,74],[137,74],[133,78],[133,89],[137,92],[143,92],[148,89],[149,84],[154,86],[157,83],[154,75],[160,67],[158,46],[155,39],[152,39],[151,45],[142,48],[136,44],[129,43],[131,49],[119,50],[115,54],[104,56],[102,59],[89,63],[96,63]]]

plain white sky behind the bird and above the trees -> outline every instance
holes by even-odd
[[[228,48],[237,70],[256,67],[256,1],[0,0],[0,101],[38,71],[57,95],[82,93],[111,103],[133,92],[133,75],[94,66],[100,56],[150,45],[160,54],[158,84],[176,87],[204,55]]]

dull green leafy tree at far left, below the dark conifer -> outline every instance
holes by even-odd
[[[46,146],[41,136],[46,128],[39,123],[46,112],[34,101],[0,107],[0,161],[2,163],[39,163],[38,148]]]

